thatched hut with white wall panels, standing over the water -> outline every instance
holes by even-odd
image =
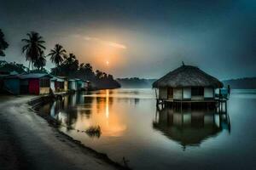
[[[217,78],[192,65],[182,65],[153,83],[161,102],[214,102],[215,90],[223,88]]]

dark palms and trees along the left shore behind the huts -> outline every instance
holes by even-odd
[[[38,32],[27,33],[26,38],[21,42],[23,42],[22,53],[25,54],[26,61],[29,62],[28,72],[47,72],[44,67],[47,57],[49,57],[49,60],[55,65],[50,71],[50,74],[54,76],[89,80],[95,82],[98,88],[119,88],[120,86],[112,75],[99,70],[94,71],[90,63],[79,63],[75,54],[67,54],[67,50],[59,43],[50,49],[49,54],[45,54],[45,41]],[[5,41],[3,31],[0,29],[0,56],[5,56],[4,50],[8,47],[9,44]],[[10,66],[26,68],[15,63],[10,63],[8,67]]]

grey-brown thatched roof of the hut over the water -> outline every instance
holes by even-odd
[[[217,78],[201,71],[198,67],[182,65],[176,70],[169,72],[153,83],[153,88],[181,88],[181,87],[212,87],[222,88],[223,83]]]

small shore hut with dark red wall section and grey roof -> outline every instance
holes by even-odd
[[[31,73],[19,77],[21,94],[49,94],[49,74]]]

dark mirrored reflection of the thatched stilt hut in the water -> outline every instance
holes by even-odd
[[[199,146],[224,129],[230,133],[230,117],[227,113],[211,110],[164,108],[156,111],[153,127],[185,149],[187,146]]]

